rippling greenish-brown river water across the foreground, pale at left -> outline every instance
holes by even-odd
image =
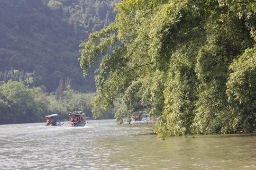
[[[152,124],[0,125],[0,170],[256,170],[256,135],[170,137]]]

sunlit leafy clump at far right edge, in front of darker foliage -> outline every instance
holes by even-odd
[[[256,46],[247,49],[230,68],[233,70],[227,82],[228,100],[232,104],[230,127],[250,132],[256,127]]]

